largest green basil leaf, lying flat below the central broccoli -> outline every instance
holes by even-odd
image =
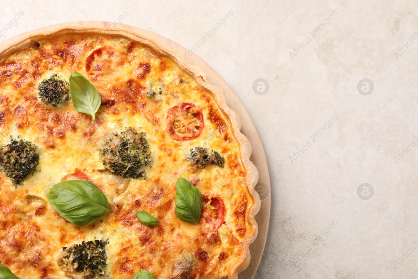
[[[56,212],[74,225],[89,225],[112,211],[103,192],[87,180],[59,182],[46,197]]]

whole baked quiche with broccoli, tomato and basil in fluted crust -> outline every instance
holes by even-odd
[[[0,275],[238,278],[260,207],[250,154],[223,92],[157,42],[23,38],[0,51]]]

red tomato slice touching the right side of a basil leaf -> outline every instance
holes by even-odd
[[[204,196],[201,217],[212,225],[213,230],[219,229],[225,218],[224,201],[220,197]]]

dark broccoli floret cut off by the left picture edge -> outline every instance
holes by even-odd
[[[15,184],[19,184],[25,177],[35,171],[39,163],[37,147],[30,141],[16,141],[10,137],[10,143],[0,146],[1,161],[6,176]]]

